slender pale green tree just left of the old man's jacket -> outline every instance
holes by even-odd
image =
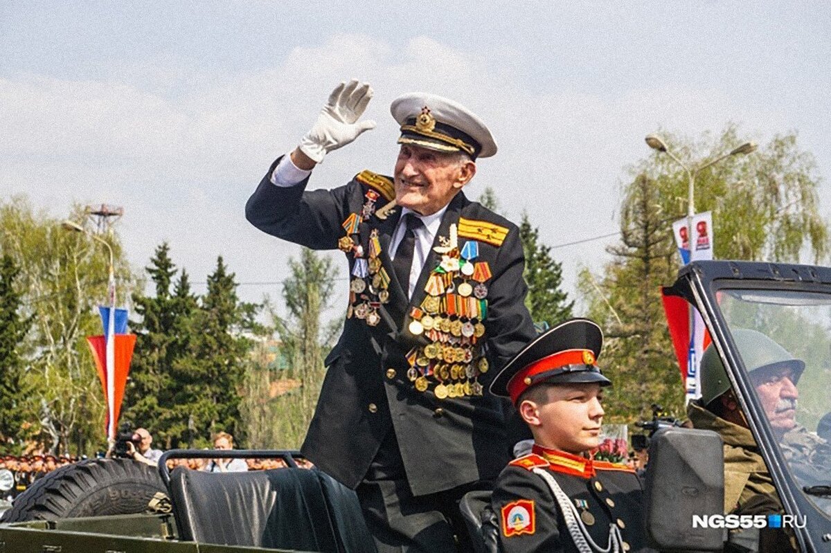
[[[337,277],[332,259],[303,248],[300,260],[290,259],[288,265],[291,276],[283,281],[287,315],[272,311],[279,355],[288,360],[288,369],[269,368],[261,349],[246,380],[243,414],[258,447],[300,446],[326,372],[323,359],[340,329],[339,320],[322,322]],[[269,426],[263,428],[267,422]]]

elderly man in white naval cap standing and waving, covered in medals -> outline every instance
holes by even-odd
[[[513,223],[462,192],[476,160],[496,153],[490,131],[437,95],[392,102],[392,178],[365,170],[307,191],[315,164],[375,126],[359,120],[371,95],[341,83],[297,149],[268,169],[246,216],[347,257],[347,319],[302,452],[356,488],[379,551],[466,551],[457,503],[510,458],[510,405],[486,390],[534,337],[522,244]]]

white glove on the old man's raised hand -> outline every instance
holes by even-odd
[[[349,144],[365,130],[375,129],[375,121],[358,121],[371,99],[372,88],[368,83],[353,79],[338,85],[312,130],[300,140],[302,153],[319,164],[333,149]]]

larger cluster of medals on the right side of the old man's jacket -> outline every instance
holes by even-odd
[[[427,279],[424,301],[411,309],[408,325],[411,334],[424,335],[430,343],[407,354],[407,378],[419,392],[435,384],[437,399],[479,396],[479,375],[489,369],[479,339],[485,333],[490,268],[475,261],[479,242],[465,242],[459,249],[455,224],[450,225],[450,237],[439,241],[434,250],[441,262]]]

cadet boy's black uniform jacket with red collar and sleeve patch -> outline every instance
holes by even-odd
[[[496,482],[491,508],[499,521],[500,551],[578,551],[551,488],[534,468],[557,481],[601,549],[609,544],[609,526],[615,525],[621,551],[652,551],[646,545],[643,489],[632,469],[537,445],[534,452],[510,462]]]

